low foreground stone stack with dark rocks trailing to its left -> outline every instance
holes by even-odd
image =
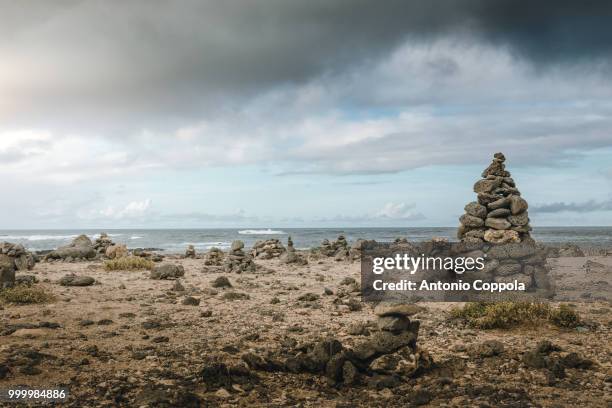
[[[252,369],[324,374],[332,385],[392,387],[432,364],[416,346],[419,322],[409,319],[421,310],[409,303],[379,304],[374,310],[378,330],[352,347],[326,338],[281,351],[281,356],[247,353],[242,359]]]

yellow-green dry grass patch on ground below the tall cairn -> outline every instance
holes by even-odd
[[[575,327],[580,321],[578,314],[567,305],[553,309],[546,303],[529,302],[467,303],[453,309],[451,316],[479,329],[535,326],[543,321],[559,327]]]

